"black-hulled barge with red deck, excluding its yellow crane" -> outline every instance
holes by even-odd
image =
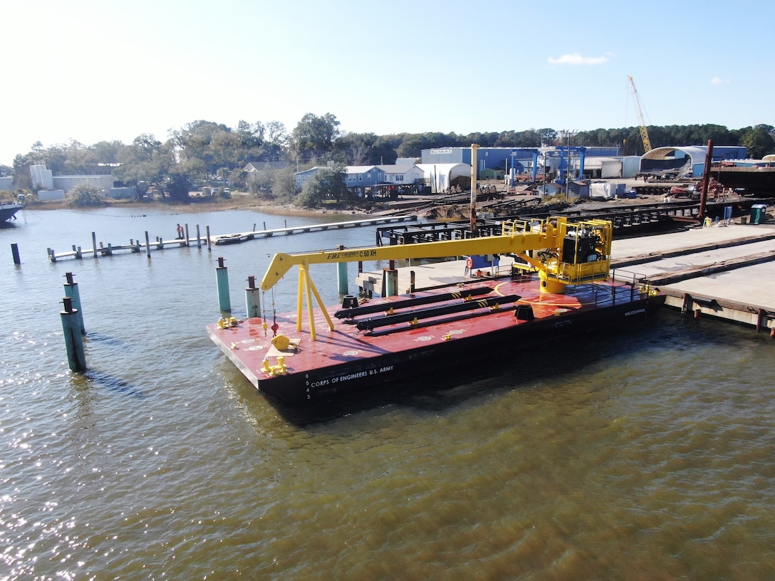
[[[335,325],[329,331],[322,313],[317,312],[314,341],[308,321],[298,331],[295,313],[277,315],[277,335],[291,340],[291,347],[282,352],[271,342],[271,318],[267,319],[266,328],[260,318],[239,321],[231,328],[208,325],[208,334],[253,386],[281,401],[298,404],[414,377],[421,372],[434,373],[434,364],[447,366],[466,359],[469,364],[482,364],[481,347],[518,349],[522,340],[536,342],[567,332],[580,333],[646,318],[664,301],[663,296],[648,289],[611,281],[568,287],[567,294],[541,293],[537,277],[523,277],[477,280],[469,285],[374,299],[367,304],[384,304],[387,310],[408,297],[454,290],[466,296],[467,289],[473,287],[484,294],[473,297],[470,303],[484,304],[477,301],[490,299],[489,306],[385,325],[373,331],[359,330],[354,321],[335,318],[338,306],[329,308]],[[493,301],[496,297],[501,298]],[[457,299],[442,304],[462,302]],[[425,308],[396,308],[395,313]],[[517,317],[517,311],[532,311],[532,317]],[[308,316],[306,311],[304,316]],[[378,312],[355,320],[378,320],[384,316],[384,312]]]

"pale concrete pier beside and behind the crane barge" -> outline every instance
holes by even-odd
[[[695,318],[723,318],[769,329],[775,335],[775,224],[714,225],[637,238],[614,240],[611,273],[617,280],[649,280],[667,294],[667,304]],[[501,256],[498,269],[511,272]],[[404,266],[398,269],[399,292],[408,292],[412,272],[417,289],[471,282],[465,260]],[[382,272],[358,274],[365,294],[379,294]]]

